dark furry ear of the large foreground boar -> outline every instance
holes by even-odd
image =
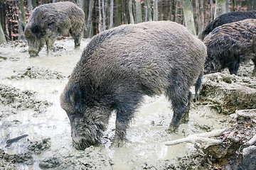
[[[77,84],[70,86],[68,99],[76,111],[82,111],[82,91]]]

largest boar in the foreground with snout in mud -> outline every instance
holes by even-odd
[[[144,95],[169,98],[174,110],[169,128],[176,130],[205,59],[203,42],[171,21],[123,25],[95,35],[60,96],[75,148],[99,141],[112,111],[117,113],[115,140],[124,140]]]

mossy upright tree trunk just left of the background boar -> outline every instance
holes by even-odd
[[[23,30],[26,26],[26,15],[23,0],[19,0],[18,7],[18,40],[21,40],[24,39]]]

